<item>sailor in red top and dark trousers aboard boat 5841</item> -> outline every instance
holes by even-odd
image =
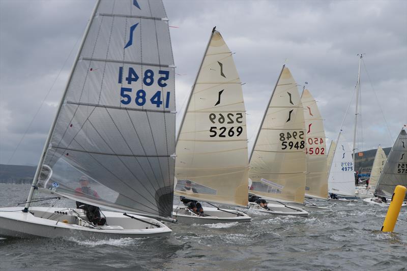
[[[83,197],[83,194],[90,195],[95,198],[99,198],[98,193],[91,189],[89,186],[89,179],[86,176],[82,176],[79,179],[80,187],[75,189],[77,194],[81,194],[80,196]],[[76,201],[76,208],[83,209],[85,211],[86,217],[90,222],[94,225],[105,225],[106,219],[100,217],[100,209],[97,206],[93,206],[90,204],[86,204],[83,202]]]

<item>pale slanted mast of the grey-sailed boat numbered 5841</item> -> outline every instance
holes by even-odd
[[[69,83],[70,83],[70,81],[72,79],[73,72],[74,72],[76,64],[78,63],[78,60],[79,60],[80,52],[81,52],[82,47],[84,45],[85,38],[86,38],[86,36],[88,36],[89,29],[91,28],[91,24],[92,24],[92,19],[96,15],[96,10],[98,9],[99,3],[100,3],[100,0],[98,0],[98,2],[96,3],[95,8],[93,9],[93,12],[92,12],[92,16],[89,19],[88,25],[86,26],[85,33],[83,34],[82,42],[81,42],[81,44],[79,46],[78,53],[76,54],[76,57],[75,57],[75,62],[73,64],[73,66],[72,66],[71,73],[69,75],[68,82],[67,82],[65,90],[64,90],[64,94],[62,95],[60,104],[59,104],[58,109],[57,109],[56,114],[55,114],[54,121],[52,122],[51,128],[49,129],[49,133],[48,133],[47,139],[46,139],[45,144],[44,144],[44,148],[43,148],[42,153],[41,153],[40,161],[38,163],[37,170],[36,170],[34,178],[33,178],[33,183],[31,185],[30,192],[28,193],[27,201],[26,201],[24,209],[22,211],[24,213],[28,212],[28,207],[30,207],[30,201],[33,198],[34,190],[37,188],[38,177],[40,176],[42,164],[44,163],[44,159],[45,159],[45,154],[47,153],[47,150],[48,150],[49,141],[51,140],[52,131],[54,130],[55,125],[56,125],[56,118],[60,114],[62,105],[63,105],[64,100],[65,100],[65,96],[66,96],[66,94],[68,92]]]

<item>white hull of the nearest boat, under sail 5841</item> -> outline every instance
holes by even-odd
[[[74,210],[80,216],[70,210]],[[104,211],[106,222],[110,226],[96,227],[81,226],[76,223],[79,220],[78,217],[86,220],[86,216],[81,209],[32,207],[30,212],[34,213],[34,215],[21,212],[21,207],[0,208],[0,236],[20,238],[73,237],[75,239],[99,240],[166,236],[171,233],[171,229],[155,219],[132,215],[156,226],[126,217],[117,212]],[[60,212],[60,214],[56,212]],[[68,223],[64,223],[64,220]]]

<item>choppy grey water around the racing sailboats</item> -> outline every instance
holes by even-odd
[[[0,185],[0,205],[15,206],[27,191]],[[254,213],[251,223],[173,224],[164,238],[3,239],[0,269],[406,270],[407,209],[395,233],[380,231],[386,212],[359,201],[308,218]]]

